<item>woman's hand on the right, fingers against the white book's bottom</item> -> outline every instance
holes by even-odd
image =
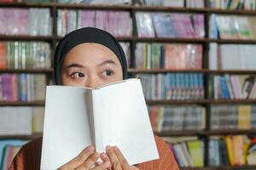
[[[102,161],[111,162],[111,170],[139,170],[137,167],[129,165],[117,146],[107,146],[106,152],[107,154],[102,153],[101,158]]]

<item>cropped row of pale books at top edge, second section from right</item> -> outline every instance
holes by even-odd
[[[143,6],[204,8],[204,0],[139,0]]]

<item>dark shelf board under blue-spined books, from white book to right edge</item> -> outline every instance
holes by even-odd
[[[163,99],[146,100],[148,105],[232,105],[232,104],[255,104],[256,99]]]

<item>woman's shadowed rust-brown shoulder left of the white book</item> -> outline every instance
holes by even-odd
[[[23,145],[15,156],[10,170],[40,169],[43,138],[33,139]]]

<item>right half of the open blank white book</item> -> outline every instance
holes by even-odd
[[[131,165],[158,159],[140,80],[129,79],[93,93],[98,97],[95,115],[101,114],[97,116],[101,119],[95,123],[101,124],[103,142],[101,150],[96,149],[117,145]]]

